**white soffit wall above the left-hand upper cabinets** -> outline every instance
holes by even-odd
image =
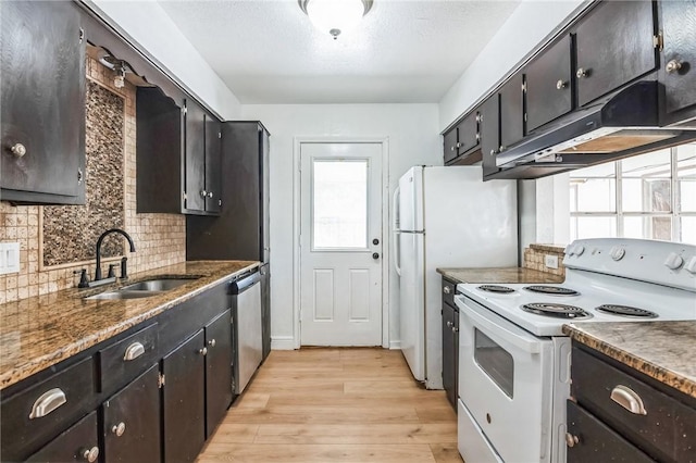
[[[116,24],[138,48],[154,57],[170,75],[224,120],[236,118],[240,104],[194,46],[153,0],[85,1],[110,24]]]

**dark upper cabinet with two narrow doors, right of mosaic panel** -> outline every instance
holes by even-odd
[[[136,112],[138,212],[219,214],[220,121],[157,87],[138,88]]]

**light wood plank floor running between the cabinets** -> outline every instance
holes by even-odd
[[[400,351],[273,351],[200,454],[212,462],[461,463],[445,392]]]

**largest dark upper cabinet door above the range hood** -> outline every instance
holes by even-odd
[[[652,2],[600,2],[576,32],[577,102],[584,105],[656,67]]]

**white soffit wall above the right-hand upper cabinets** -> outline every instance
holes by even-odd
[[[465,113],[583,3],[585,0],[522,0],[439,101],[440,132]]]

